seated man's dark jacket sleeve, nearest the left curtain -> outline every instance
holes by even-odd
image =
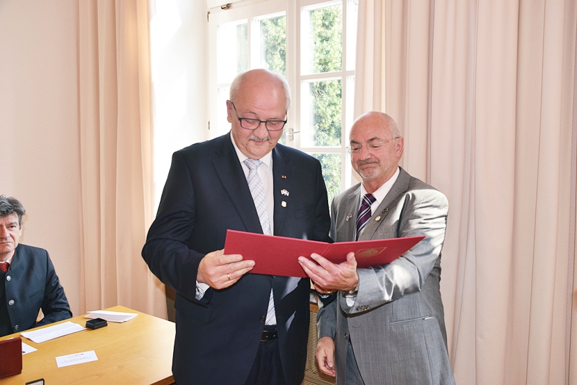
[[[54,270],[54,265],[46,252],[47,274],[44,286],[44,300],[42,300],[42,313],[44,318],[34,327],[48,325],[52,322],[67,320],[72,317],[72,311],[68,306],[68,300],[64,294],[64,288],[60,286],[60,280]]]

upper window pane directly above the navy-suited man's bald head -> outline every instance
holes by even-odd
[[[286,16],[257,19],[255,26],[259,49],[254,63],[286,76]]]

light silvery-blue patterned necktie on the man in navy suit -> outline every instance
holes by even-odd
[[[244,160],[244,163],[249,170],[246,181],[248,183],[248,188],[250,188],[250,195],[252,195],[254,207],[257,208],[257,213],[259,214],[263,234],[270,236],[272,233],[270,232],[270,220],[268,219],[268,210],[266,208],[266,197],[264,195],[263,183],[259,177],[259,172],[257,171],[259,165],[262,164],[262,161],[247,158]],[[273,290],[271,289],[270,297],[268,298],[268,310],[266,311],[265,325],[276,324],[277,317],[275,316],[275,300],[273,299]]]

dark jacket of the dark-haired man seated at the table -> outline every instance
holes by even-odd
[[[1,278],[0,331],[4,333],[0,336],[72,317],[46,250],[18,245],[10,269]],[[44,318],[36,323],[40,309]]]

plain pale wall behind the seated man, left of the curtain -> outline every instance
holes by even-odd
[[[22,243],[47,249],[79,311],[76,1],[0,1],[0,194],[27,214]]]

